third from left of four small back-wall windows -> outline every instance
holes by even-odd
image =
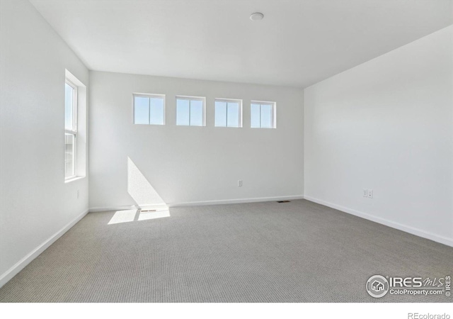
[[[242,100],[216,99],[214,125],[226,128],[241,128]]]

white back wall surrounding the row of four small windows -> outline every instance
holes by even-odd
[[[301,89],[108,72],[90,84],[90,208],[302,196]],[[132,124],[133,92],[166,94],[166,125]],[[176,126],[176,95],[206,96],[205,127]],[[214,127],[215,98],[243,99],[243,128]],[[250,128],[251,99],[277,102],[276,129]],[[153,188],[161,200],[137,194]]]

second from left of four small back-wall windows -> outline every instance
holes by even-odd
[[[205,126],[205,98],[176,96],[176,125]]]

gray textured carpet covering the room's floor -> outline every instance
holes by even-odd
[[[452,302],[372,298],[369,276],[452,275],[453,248],[299,200],[89,213],[0,289],[1,302]],[[137,218],[136,218],[137,219]]]

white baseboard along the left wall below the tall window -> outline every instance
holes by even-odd
[[[81,213],[79,216],[74,218],[71,222],[67,223],[62,229],[58,230],[57,233],[52,235],[50,238],[45,240],[45,242],[42,242],[41,245],[36,247],[34,250],[32,250],[29,254],[27,254],[25,257],[23,257],[21,260],[19,260],[13,267],[8,269],[4,274],[1,274],[0,276],[0,287],[6,284],[13,276],[16,276],[18,272],[20,272],[25,266],[30,264],[30,262],[35,259],[36,257],[39,256],[41,252],[44,252],[47,247],[52,245],[59,237],[62,237],[64,233],[66,233],[69,228],[74,226],[79,220],[84,218],[84,216],[88,213],[88,210],[84,211],[84,213]]]

